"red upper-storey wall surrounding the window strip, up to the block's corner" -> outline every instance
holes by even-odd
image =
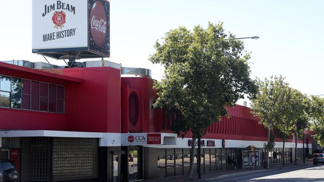
[[[1,65],[0,65],[1,66]],[[65,86],[65,113],[0,108],[1,130],[121,132],[120,70],[110,67],[46,70],[72,81],[23,67],[0,68],[0,74]],[[32,70],[32,69],[27,69]],[[40,75],[39,75],[40,74]],[[78,78],[73,81],[73,78]],[[81,81],[79,79],[82,79]],[[80,82],[79,82],[80,81]]]

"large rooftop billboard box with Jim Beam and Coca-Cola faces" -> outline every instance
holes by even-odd
[[[33,0],[32,52],[110,57],[109,12],[108,0]]]

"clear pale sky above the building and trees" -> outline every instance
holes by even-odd
[[[31,0],[1,0],[0,60],[45,61],[31,53]],[[178,26],[224,22],[252,52],[251,78],[282,75],[304,93],[324,94],[322,0],[111,0],[111,58],[126,67],[163,69],[148,61],[155,41]],[[63,65],[63,61],[49,59]],[[241,103],[240,103],[241,104]]]

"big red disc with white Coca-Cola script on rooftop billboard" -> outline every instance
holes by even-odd
[[[90,30],[97,47],[103,47],[106,43],[108,22],[105,8],[99,0],[96,0],[91,7]]]

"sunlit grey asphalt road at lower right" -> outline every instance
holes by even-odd
[[[264,173],[246,174],[214,182],[324,182],[324,166],[303,166],[291,169],[273,170]]]

